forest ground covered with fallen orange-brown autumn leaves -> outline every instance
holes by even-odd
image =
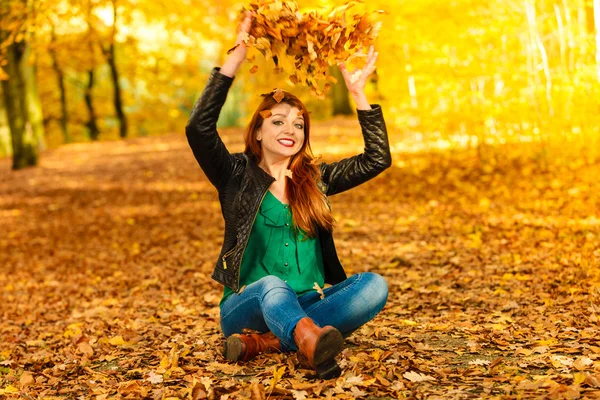
[[[315,129],[325,160],[360,149]],[[183,135],[0,160],[0,397],[599,398],[600,163],[497,151],[395,153],[332,198],[346,269],[390,294],[331,381],[220,355],[223,223]]]

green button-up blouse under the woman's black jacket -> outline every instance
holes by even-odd
[[[315,290],[315,283],[325,284],[319,239],[306,238],[302,230],[295,235],[292,210],[270,190],[256,214],[242,258],[240,291],[267,275],[283,279],[299,296]],[[220,304],[232,294],[225,286]]]

